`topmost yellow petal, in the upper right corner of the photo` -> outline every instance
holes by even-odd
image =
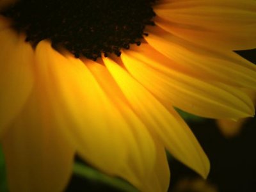
[[[163,19],[208,29],[236,29],[256,21],[256,3],[248,1],[171,1],[154,11]]]

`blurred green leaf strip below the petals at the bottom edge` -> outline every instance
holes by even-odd
[[[82,163],[74,163],[73,171],[76,175],[84,177],[85,179],[108,184],[109,186],[119,189],[120,191],[138,192],[136,188],[134,188],[128,182],[125,182],[125,180],[116,177],[110,177]]]

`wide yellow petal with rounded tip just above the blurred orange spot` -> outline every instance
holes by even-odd
[[[241,118],[254,113],[252,100],[237,88],[211,81],[207,83],[171,68],[159,72],[148,65],[150,60],[144,63],[134,59],[132,52],[127,53],[129,51],[122,54],[127,70],[168,105],[210,118]]]

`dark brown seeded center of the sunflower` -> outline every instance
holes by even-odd
[[[157,0],[20,0],[1,14],[36,45],[44,39],[77,58],[96,60],[130,44],[140,45],[145,26],[154,25]]]

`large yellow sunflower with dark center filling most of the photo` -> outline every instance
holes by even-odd
[[[254,0],[1,1],[0,135],[10,191],[63,191],[74,154],[140,191],[209,160],[174,108],[253,116]]]

